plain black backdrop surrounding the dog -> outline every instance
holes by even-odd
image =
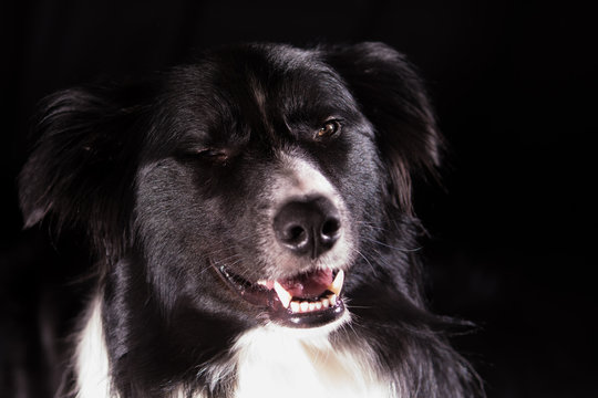
[[[594,24],[570,2],[2,2],[0,396],[43,371],[43,305],[71,296],[40,285],[63,286],[81,256],[21,231],[16,176],[39,100],[219,44],[375,40],[420,67],[450,143],[444,188],[417,192],[431,306],[478,325],[454,343],[489,397],[598,397]]]

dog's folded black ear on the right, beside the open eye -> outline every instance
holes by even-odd
[[[375,129],[393,203],[411,212],[412,176],[435,176],[442,147],[421,78],[401,53],[382,43],[322,48],[322,54]]]

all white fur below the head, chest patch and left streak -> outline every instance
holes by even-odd
[[[375,355],[368,345],[337,347],[330,336],[327,329],[293,331],[274,325],[245,332],[231,347],[229,359],[202,369],[207,376],[203,389],[214,390],[226,383],[228,395],[236,398],[398,396],[394,385],[375,374]],[[100,298],[90,305],[75,364],[76,398],[118,397],[111,386]],[[187,397],[183,388],[171,396]]]

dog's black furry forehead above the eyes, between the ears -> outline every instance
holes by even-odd
[[[187,98],[174,107],[206,135],[277,132],[295,121],[322,123],[357,113],[342,78],[316,50],[254,45],[212,54],[179,74],[175,95]],[[223,126],[225,128],[223,129]],[[239,132],[245,129],[245,132]]]

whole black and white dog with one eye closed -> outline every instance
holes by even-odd
[[[476,395],[422,300],[411,181],[441,139],[394,50],[225,48],[58,93],[38,128],[25,226],[99,260],[64,395]]]

